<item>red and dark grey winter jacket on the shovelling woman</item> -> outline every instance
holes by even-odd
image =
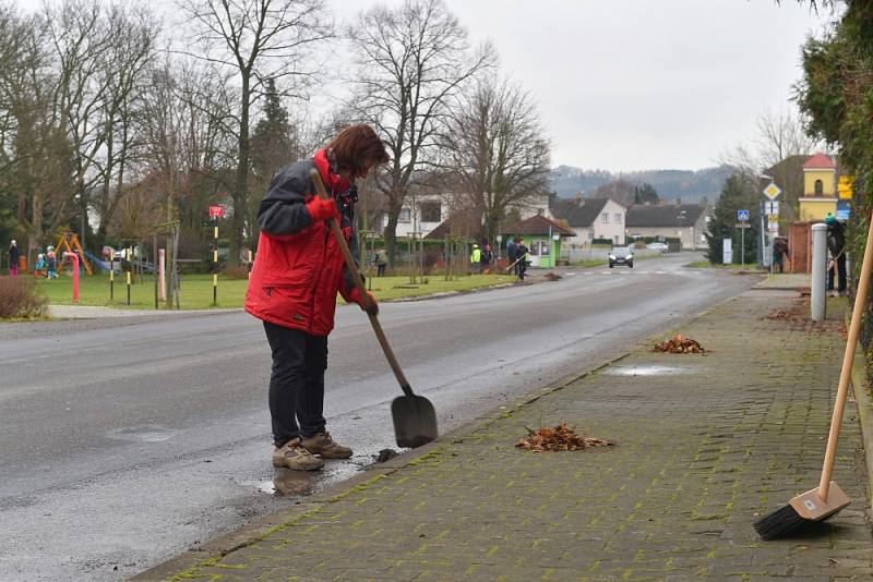
[[[270,184],[258,210],[261,237],[246,292],[246,311],[259,319],[326,336],[334,328],[336,293],[359,302],[328,222],[313,223],[306,203],[315,191],[309,172],[319,168],[340,211],[340,227],[357,256],[351,235],[355,187],[328,169],[324,150],[297,161]]]

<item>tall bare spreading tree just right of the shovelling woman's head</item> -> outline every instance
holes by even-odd
[[[387,204],[384,235],[393,260],[404,199],[417,173],[435,159],[451,100],[493,64],[494,54],[490,45],[470,49],[466,29],[443,0],[374,7],[348,34],[359,71],[349,105],[376,128],[392,156],[378,187]]]

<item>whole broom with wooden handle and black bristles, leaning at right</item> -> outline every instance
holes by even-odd
[[[858,341],[858,335],[861,331],[861,318],[866,305],[871,266],[873,266],[873,218],[870,219],[870,229],[866,234],[864,260],[861,264],[861,278],[858,282],[852,319],[849,324],[849,337],[846,341],[846,354],[842,357],[842,371],[839,375],[837,401],[834,404],[834,415],[830,419],[830,433],[827,436],[827,450],[825,452],[824,466],[822,468],[822,480],[817,488],[798,495],[787,506],[757,520],[754,526],[762,539],[782,537],[806,525],[824,521],[851,502],[842,489],[830,481],[830,474],[834,471],[834,458],[837,453],[837,438],[839,437],[839,425],[842,422],[842,409],[846,407],[846,397],[849,392],[854,347]]]

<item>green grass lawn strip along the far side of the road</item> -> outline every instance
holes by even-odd
[[[445,293],[450,291],[470,291],[483,287],[512,282],[515,278],[501,275],[471,275],[446,281],[443,275],[430,276],[427,283],[411,284],[409,277],[380,277],[368,280],[368,288],[379,301],[400,298]],[[213,305],[212,275],[186,275],[181,280],[179,305],[182,310],[207,310],[211,307],[242,307],[246,298],[246,280],[218,279],[218,304]],[[48,302],[56,305],[72,305],[72,279],[61,276],[58,279],[40,279],[37,287],[46,294]],[[155,306],[155,282],[151,275],[131,286],[130,307],[148,310]],[[81,278],[79,305],[100,305],[128,307],[128,291],[124,277],[116,277],[113,300],[109,299],[109,276],[94,275]],[[337,301],[343,303],[343,299]],[[162,302],[163,307],[163,302]]]

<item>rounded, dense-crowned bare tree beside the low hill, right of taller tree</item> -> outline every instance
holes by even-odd
[[[455,108],[443,136],[451,167],[493,242],[514,207],[548,190],[550,144],[529,94],[489,76]]]

